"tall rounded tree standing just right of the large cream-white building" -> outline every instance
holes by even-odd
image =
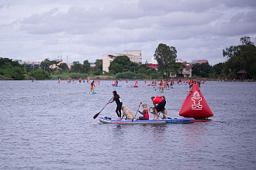
[[[177,57],[177,50],[174,46],[167,46],[166,44],[160,43],[154,53],[154,59],[157,60],[157,70],[161,74],[169,76],[172,66],[175,63]]]

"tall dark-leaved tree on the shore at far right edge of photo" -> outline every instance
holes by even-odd
[[[228,76],[236,76],[240,70],[245,70],[249,78],[256,77],[256,46],[249,36],[240,38],[239,46],[223,49],[223,57],[227,57],[223,72]]]

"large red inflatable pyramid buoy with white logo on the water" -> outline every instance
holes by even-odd
[[[197,84],[193,85],[187,97],[185,97],[179,115],[183,117],[193,117],[195,119],[213,116],[213,112],[209,108],[206,99],[202,96],[202,92]]]

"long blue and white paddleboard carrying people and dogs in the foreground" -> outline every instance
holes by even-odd
[[[195,121],[194,118],[169,118],[161,120],[116,120],[109,117],[99,117],[99,121],[104,124],[189,124]]]

